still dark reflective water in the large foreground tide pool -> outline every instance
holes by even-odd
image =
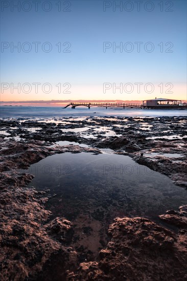
[[[186,204],[187,191],[165,175],[116,154],[55,154],[26,170],[28,185],[50,190],[46,207],[54,217],[79,216],[110,223],[115,217],[147,217],[157,221],[168,209]]]

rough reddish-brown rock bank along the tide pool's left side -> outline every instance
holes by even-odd
[[[74,150],[97,153],[96,149],[61,147],[51,149],[35,144],[11,142],[0,156],[0,280],[63,280],[68,268],[75,267],[77,253],[69,247],[71,222],[64,218],[50,220],[44,208],[45,192],[25,186],[33,176],[20,173],[47,155]]]

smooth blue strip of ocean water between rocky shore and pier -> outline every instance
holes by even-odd
[[[186,110],[177,109],[140,109],[140,108],[105,108],[105,107],[35,107],[35,106],[0,106],[0,118],[67,118],[69,116],[187,116]]]

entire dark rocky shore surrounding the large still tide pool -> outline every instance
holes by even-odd
[[[98,259],[80,264],[76,250],[70,246],[74,236],[72,223],[65,218],[52,219],[51,212],[45,209],[50,199],[48,191],[26,188],[33,176],[19,171],[55,153],[98,154],[101,149],[110,148],[115,153],[129,154],[138,163],[168,175],[185,188],[184,117],[89,118],[71,122],[66,119],[57,124],[14,120],[1,121],[0,125],[1,280],[187,278],[185,206],[179,212],[169,210],[160,216],[160,221],[174,230],[144,218],[116,218],[108,230],[110,241],[100,250]],[[88,127],[85,133],[64,131],[84,127]],[[63,140],[89,147],[55,144]],[[150,154],[153,152],[157,154]]]

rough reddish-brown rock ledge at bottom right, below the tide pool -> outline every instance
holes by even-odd
[[[184,210],[185,209],[185,210]],[[186,280],[187,213],[168,211],[161,219],[182,226],[178,234],[145,218],[116,218],[111,241],[99,262],[81,263],[68,280]]]

